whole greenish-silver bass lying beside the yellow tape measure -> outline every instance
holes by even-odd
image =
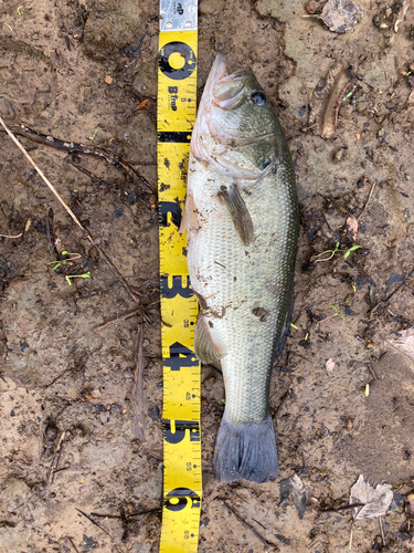
[[[191,138],[180,231],[199,300],[194,353],[221,362],[225,408],[214,452],[222,482],[278,474],[272,367],[290,327],[299,207],[289,147],[251,69],[220,53]]]

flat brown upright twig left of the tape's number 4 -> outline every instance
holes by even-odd
[[[134,435],[141,441],[146,441],[147,429],[147,401],[144,394],[144,323],[139,323],[135,343],[135,383],[132,389],[134,410]]]

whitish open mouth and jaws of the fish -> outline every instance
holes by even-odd
[[[243,93],[252,70],[238,70],[229,74],[226,56],[217,54],[206,83],[210,101],[222,109],[234,109],[243,102]]]

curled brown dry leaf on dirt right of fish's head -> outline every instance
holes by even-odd
[[[310,98],[309,127],[322,138],[332,138],[337,129],[337,105],[349,77],[341,62],[335,62],[317,84]]]

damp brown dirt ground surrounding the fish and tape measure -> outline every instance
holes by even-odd
[[[348,503],[361,472],[391,482],[394,500],[382,519],[383,538],[379,519],[353,526],[353,551],[414,550],[407,501],[414,491],[413,362],[385,341],[414,326],[408,276],[414,8],[408,6],[397,23],[402,1],[359,0],[364,17],[352,30],[336,33],[315,17],[322,3],[200,3],[199,96],[217,52],[229,54],[231,69],[253,66],[288,137],[301,208],[297,330],[275,365],[270,390],[280,474],[265,484],[224,486],[213,479],[224,387],[220,375],[204,367],[199,547],[204,553],[259,553],[267,546],[288,553],[349,551],[350,512],[323,511]],[[139,179],[102,158],[22,138],[147,305],[149,430],[140,442],[132,432],[139,321],[99,327],[137,304],[0,134],[0,233],[22,233],[0,238],[1,553],[158,551],[157,17],[158,3],[148,0],[28,0],[0,7],[0,115],[9,125],[24,123],[121,155],[153,190],[146,192]],[[330,98],[339,117],[326,139],[309,125],[309,105],[336,62],[342,63],[346,87]],[[355,241],[346,229],[350,216],[359,218]],[[337,242],[341,250],[361,248],[347,259],[338,251],[315,260]],[[81,257],[51,270],[47,263],[63,259],[62,251]],[[87,272],[91,279],[74,278],[72,285],[65,279]],[[307,488],[302,520],[291,500],[280,505],[279,483],[294,473]]]

